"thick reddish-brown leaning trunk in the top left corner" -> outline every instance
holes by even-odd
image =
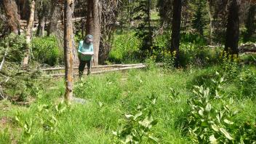
[[[3,3],[9,28],[15,34],[20,33],[20,15],[17,13],[17,4],[15,0],[4,0]]]

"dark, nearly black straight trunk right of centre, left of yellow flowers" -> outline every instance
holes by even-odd
[[[180,47],[180,20],[181,20],[181,1],[173,1],[172,13],[172,37],[171,37],[171,52],[176,52],[175,66],[178,66],[179,47]]]

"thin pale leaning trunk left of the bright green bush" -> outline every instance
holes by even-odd
[[[30,4],[31,8],[31,15],[29,16],[28,20],[28,28],[25,33],[25,41],[27,44],[27,48],[25,49],[25,57],[23,59],[23,67],[26,67],[28,65],[28,60],[30,56],[31,51],[31,37],[32,37],[32,28],[33,28],[33,20],[34,20],[34,13],[35,13],[35,1],[32,0]]]

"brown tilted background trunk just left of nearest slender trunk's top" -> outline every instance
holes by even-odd
[[[52,0],[52,6],[51,6],[51,15],[50,15],[50,22],[47,27],[47,36],[49,36],[51,33],[54,33],[57,29],[57,20],[59,20],[60,14],[60,7],[57,6],[57,1]]]

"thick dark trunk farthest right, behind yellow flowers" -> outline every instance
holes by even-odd
[[[225,51],[239,54],[239,0],[232,0],[228,7],[228,24],[225,37]]]

